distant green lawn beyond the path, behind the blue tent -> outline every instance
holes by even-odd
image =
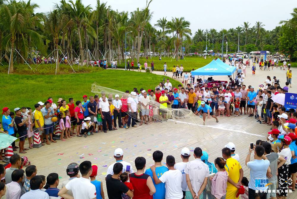
[[[127,60],[129,60],[129,59],[127,59]],[[146,58],[144,58],[144,57],[142,57],[139,60],[140,64],[142,65],[142,68],[144,68],[143,64],[145,61],[146,61]],[[171,57],[170,58],[162,57],[162,60],[159,61],[158,57],[152,57],[152,59],[149,58],[149,60],[148,60],[149,67],[151,66],[151,61],[154,61],[154,63],[155,63],[155,65],[154,65],[155,70],[162,71],[164,62],[166,62],[167,71],[172,71],[171,69],[172,69],[173,65],[180,66],[181,64],[183,64],[184,71],[190,72],[193,68],[196,70],[198,68],[205,66],[206,64],[209,64],[209,62],[212,61],[212,57],[207,57],[206,59],[204,59],[203,57],[192,56],[192,57],[185,57],[185,59],[182,59],[179,61],[176,61],[175,59],[172,59],[172,61],[171,61]],[[130,62],[131,62],[131,60],[130,60]],[[136,59],[134,60],[134,67],[137,68]],[[120,64],[119,68],[125,68],[125,63]]]

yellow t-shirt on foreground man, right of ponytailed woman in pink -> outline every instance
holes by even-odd
[[[226,165],[225,165],[225,170],[228,173],[228,176],[235,182],[237,183],[239,180],[239,170],[241,169],[241,165],[240,163],[230,157],[227,159],[226,161]],[[227,182],[227,191],[234,191],[237,190],[237,187],[233,186],[231,183]]]

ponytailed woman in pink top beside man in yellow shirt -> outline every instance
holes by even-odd
[[[211,194],[216,199],[226,198],[228,173],[225,170],[226,161],[222,157],[214,160],[218,172],[211,179]]]

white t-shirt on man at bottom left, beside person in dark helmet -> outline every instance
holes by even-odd
[[[91,199],[96,198],[96,187],[89,179],[80,177],[69,181],[66,189],[71,190],[74,198]]]

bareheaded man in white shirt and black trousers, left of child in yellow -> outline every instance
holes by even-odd
[[[111,124],[111,112],[110,112],[109,103],[105,94],[102,94],[102,101],[99,102],[99,109],[102,117],[103,132],[107,133],[106,121],[108,122],[109,130],[113,131],[112,124]]]

